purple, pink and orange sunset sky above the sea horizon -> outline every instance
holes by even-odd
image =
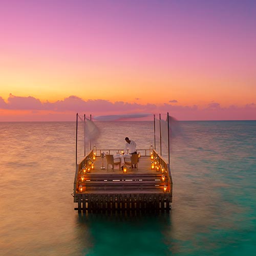
[[[256,119],[256,1],[0,1],[0,121]]]

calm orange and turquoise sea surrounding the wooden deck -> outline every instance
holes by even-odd
[[[98,126],[98,149],[123,148],[126,136],[154,143],[153,122]],[[0,122],[0,255],[255,255],[256,121],[180,126],[172,211],[79,215],[75,123]]]

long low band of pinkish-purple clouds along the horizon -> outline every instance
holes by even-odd
[[[174,100],[173,100],[174,101]],[[173,102],[177,103],[177,102]],[[205,107],[198,105],[178,105],[162,103],[160,105],[147,103],[129,103],[124,101],[111,102],[103,99],[83,100],[77,96],[69,96],[55,102],[41,102],[39,99],[28,96],[20,97],[10,94],[7,102],[0,97],[1,121],[7,120],[7,116],[17,117],[26,115],[31,120],[73,120],[74,113],[93,114],[120,120],[127,118],[147,118],[147,113],[162,113],[175,116],[179,120],[246,120],[256,119],[256,104],[251,102],[244,106],[221,106],[218,102],[210,102]],[[138,115],[138,113],[140,115]],[[105,117],[102,117],[105,116]],[[39,118],[41,117],[41,119]],[[9,118],[8,120],[11,120]],[[27,120],[25,118],[25,120]]]

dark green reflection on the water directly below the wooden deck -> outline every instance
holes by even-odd
[[[168,255],[172,230],[167,212],[105,212],[79,214],[77,236],[86,255]]]

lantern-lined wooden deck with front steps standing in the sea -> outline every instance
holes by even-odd
[[[110,152],[112,153],[112,152]],[[78,211],[113,209],[170,209],[172,202],[172,176],[169,165],[154,151],[154,160],[150,153],[140,157],[138,169],[127,167],[127,172],[114,170],[106,163],[105,157],[97,152],[93,160],[91,151],[77,165],[74,181],[74,202]],[[159,169],[152,169],[152,161]],[[94,169],[91,169],[92,163]],[[101,167],[105,167],[102,169]],[[90,172],[88,172],[90,168]]]

